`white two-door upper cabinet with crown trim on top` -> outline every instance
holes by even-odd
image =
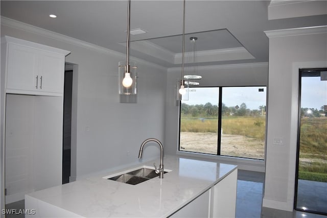
[[[5,39],[7,93],[62,95],[69,52],[8,36]]]

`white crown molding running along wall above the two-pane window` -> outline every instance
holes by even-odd
[[[256,67],[268,67],[268,62],[257,62],[257,63],[240,63],[240,64],[222,64],[222,65],[208,65],[208,66],[197,66],[198,71],[200,70],[217,70],[217,69],[244,69],[244,68],[256,68]],[[184,67],[185,70],[192,70],[194,67]],[[168,72],[179,72],[181,67],[170,67]]]

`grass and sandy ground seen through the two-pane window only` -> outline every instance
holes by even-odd
[[[221,155],[264,159],[265,122],[265,116],[223,116]],[[185,138],[186,132],[204,135],[198,134],[202,136],[199,138],[191,137],[193,135]],[[180,145],[191,152],[217,154],[217,132],[217,117],[182,116]],[[217,136],[216,139],[212,134]]]

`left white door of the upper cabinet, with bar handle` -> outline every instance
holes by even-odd
[[[7,89],[36,90],[37,50],[9,44]]]

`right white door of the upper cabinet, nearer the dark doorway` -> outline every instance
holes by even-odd
[[[40,52],[38,90],[63,92],[64,56],[56,53]]]

